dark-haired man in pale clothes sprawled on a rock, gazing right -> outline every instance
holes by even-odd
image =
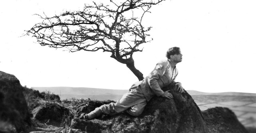
[[[120,112],[129,113],[132,116],[138,116],[144,110],[147,102],[154,96],[173,98],[168,91],[162,91],[161,88],[168,86],[170,83],[176,84],[178,91],[184,92],[180,82],[175,82],[178,75],[176,64],[182,62],[180,48],[169,48],[166,52],[168,60],[162,60],[156,64],[154,70],[142,81],[132,85],[129,91],[122,96],[116,103],[105,104],[97,107],[94,111],[80,115],[80,119],[94,119],[102,114],[115,115]]]

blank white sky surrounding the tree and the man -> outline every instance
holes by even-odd
[[[100,2],[100,0],[94,0]],[[106,52],[68,52],[40,46],[22,36],[38,16],[82,10],[90,0],[0,1],[0,71],[15,75],[27,87],[129,89],[138,81]],[[176,81],[186,90],[256,93],[256,1],[166,0],[145,16],[154,40],[133,55],[146,77],[168,48],[181,48]]]

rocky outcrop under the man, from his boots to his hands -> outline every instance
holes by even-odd
[[[74,119],[71,127],[88,133],[209,133],[200,109],[188,93],[179,93],[171,85],[164,89],[170,89],[174,98],[153,97],[139,117],[121,113],[91,121]]]

